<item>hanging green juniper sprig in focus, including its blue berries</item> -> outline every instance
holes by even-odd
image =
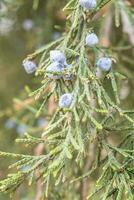
[[[33,174],[39,169],[39,178],[46,184],[46,196],[49,196],[51,179],[56,186],[61,182],[68,182],[68,179],[72,181],[73,178],[67,171],[73,171],[72,166],[79,169],[84,166],[84,160],[89,156],[87,147],[94,144],[98,152],[94,155],[92,168],[73,180],[87,178],[100,169],[101,175],[99,174],[95,191],[87,199],[94,198],[102,190],[103,200],[112,195],[121,199],[124,190],[125,193],[129,190],[126,196],[132,199],[133,188],[127,186],[127,182],[133,180],[133,167],[130,164],[134,155],[133,136],[128,137],[130,145],[127,145],[127,149],[122,147],[125,140],[116,147],[108,142],[108,137],[114,131],[122,133],[116,125],[115,116],[127,121],[131,130],[134,119],[120,106],[117,83],[119,73],[115,72],[114,58],[101,46],[94,27],[89,30],[89,23],[93,24],[96,14],[110,2],[112,1],[70,0],[63,9],[68,14],[69,24],[63,37],[28,55],[24,60],[26,72],[35,72],[43,79],[42,85],[30,93],[30,97],[36,101],[42,100],[38,110],[34,110],[35,117],[42,114],[51,97],[57,103],[57,109],[40,138],[25,134],[24,138],[17,139],[17,142],[28,145],[43,143],[46,148],[43,155],[0,153],[0,156],[17,158],[18,161],[10,167],[17,167],[19,170],[0,182],[1,192],[16,190],[26,178],[33,180]],[[35,1],[34,8],[37,8],[38,3]],[[117,11],[116,8],[116,26],[119,26]],[[94,55],[91,61],[88,51]],[[97,75],[97,71],[102,76]],[[105,87],[103,77],[106,82],[110,82],[110,92]],[[103,151],[106,153],[101,158]],[[123,162],[120,162],[120,158]],[[23,171],[24,167],[28,169]]]

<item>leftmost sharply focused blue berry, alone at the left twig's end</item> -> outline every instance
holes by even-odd
[[[23,67],[28,74],[32,74],[37,69],[36,63],[31,60],[24,60]]]

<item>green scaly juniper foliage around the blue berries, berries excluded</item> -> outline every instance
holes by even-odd
[[[33,147],[42,143],[44,151],[42,155],[0,152],[1,157],[17,159],[10,166],[17,171],[0,181],[1,192],[12,194],[24,180],[28,180],[31,185],[41,179],[45,185],[42,199],[47,196],[48,199],[133,200],[134,111],[126,109],[119,96],[121,82],[130,75],[124,66],[125,62],[131,66],[129,51],[132,51],[133,46],[123,36],[123,42],[115,42],[118,34],[116,27],[122,23],[120,3],[101,0],[96,9],[87,12],[80,7],[78,0],[70,0],[63,9],[67,14],[66,32],[60,39],[41,47],[26,58],[39,63],[36,76],[41,80],[41,85],[33,92],[27,88],[29,98],[36,101],[33,100],[32,105],[23,104],[19,117],[25,117],[25,123],[30,128],[24,138],[16,141]],[[38,4],[39,1],[34,1],[34,9]],[[122,5],[126,14],[132,17],[131,9],[126,7],[125,2]],[[112,20],[115,21],[115,27],[111,33],[114,37],[108,47],[99,45],[88,49],[85,37],[92,30],[99,34],[97,23],[105,24],[105,17],[103,19],[101,16],[100,20],[98,15],[106,6],[109,6],[109,10],[114,9],[115,18]],[[118,31],[122,33],[121,28]],[[49,52],[53,49],[66,54],[68,63],[73,66],[72,80],[50,80],[47,76]],[[125,62],[121,58],[124,51],[124,54],[128,54]],[[103,76],[97,75],[96,61],[100,55],[111,57],[114,63],[113,69],[103,73]],[[69,73],[68,70],[62,72],[63,75]],[[73,94],[71,107],[60,109],[57,106],[51,116],[47,110],[49,100],[54,98],[54,102],[58,103],[60,96],[68,92]],[[47,127],[38,130],[35,122],[44,116],[49,123]],[[40,136],[37,137],[36,132]],[[28,169],[23,171],[25,167]],[[94,186],[89,187],[92,177],[95,179]],[[87,181],[89,190],[86,197],[83,197],[84,181]]]

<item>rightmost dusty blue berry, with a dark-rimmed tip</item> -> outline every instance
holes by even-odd
[[[98,60],[97,66],[102,71],[109,71],[112,68],[112,59],[107,57],[102,57]]]

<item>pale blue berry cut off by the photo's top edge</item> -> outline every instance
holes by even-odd
[[[80,5],[86,10],[92,10],[97,6],[96,0],[80,0]]]

